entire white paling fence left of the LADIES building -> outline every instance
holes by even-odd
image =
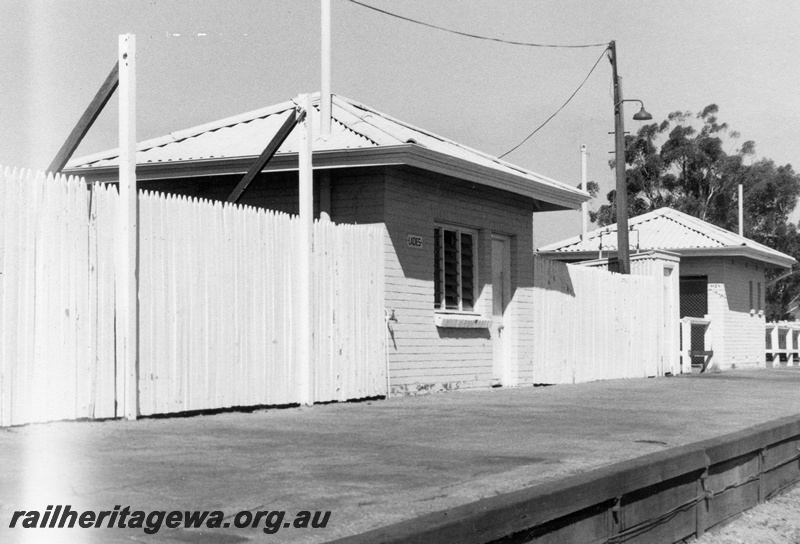
[[[0,180],[0,426],[122,416],[118,193]],[[297,219],[140,193],[139,413],[298,402]],[[315,223],[312,401],[386,394],[383,233]]]

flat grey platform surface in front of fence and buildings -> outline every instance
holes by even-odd
[[[0,429],[0,542],[325,542],[792,414],[797,368]],[[229,527],[9,528],[49,505]],[[236,528],[245,510],[286,515]],[[326,527],[282,526],[316,510]]]

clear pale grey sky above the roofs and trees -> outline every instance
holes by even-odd
[[[615,40],[625,98],[656,121],[719,106],[758,157],[800,168],[800,2],[795,0],[363,0],[506,40]],[[602,47],[518,47],[444,33],[332,0],[332,89],[393,117],[501,155],[552,115]],[[318,0],[2,0],[0,165],[44,169],[136,35],[137,134],[168,132],[320,88]],[[614,184],[611,66],[505,157],[577,186]],[[628,104],[625,129],[640,123]],[[116,96],[76,156],[117,146]],[[734,149],[736,142],[729,142]],[[796,219],[796,218],[795,218]],[[579,212],[536,214],[534,244],[580,233]]]

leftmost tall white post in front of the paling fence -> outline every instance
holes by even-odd
[[[136,36],[119,37],[120,313],[126,419],[139,416],[139,198],[136,186]]]

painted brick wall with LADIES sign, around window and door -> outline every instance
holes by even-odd
[[[437,327],[434,310],[433,232],[436,225],[477,231],[476,313],[491,317],[491,236],[511,238],[511,291],[504,334],[511,372],[508,384],[524,381],[515,364],[526,350],[520,327],[530,326],[532,285],[531,212],[501,191],[411,168],[389,168],[385,185],[386,307],[390,321],[389,373],[395,394],[487,387],[493,376],[490,328]],[[408,244],[418,236],[422,246]],[[524,248],[524,249],[523,249]],[[527,250],[527,251],[525,251]],[[528,339],[530,342],[530,339]]]

